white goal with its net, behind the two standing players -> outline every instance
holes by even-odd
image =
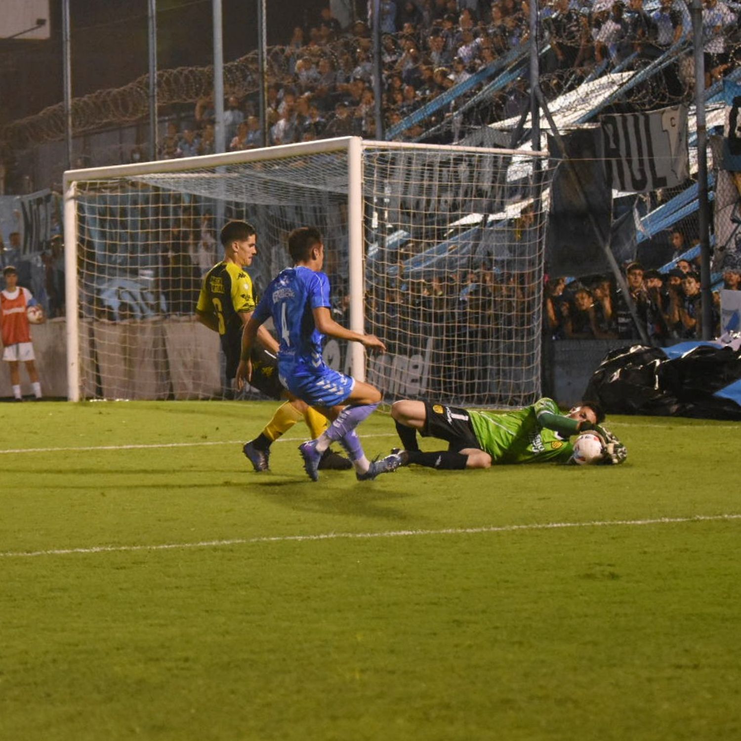
[[[194,313],[228,219],[257,229],[256,294],[313,225],[337,322],[381,337],[325,359],[388,402],[527,404],[540,391],[548,160],[354,137],[65,174],[70,399],[232,393]],[[256,392],[255,392],[256,393]]]

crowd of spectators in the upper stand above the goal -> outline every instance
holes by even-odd
[[[407,0],[381,3],[382,110],[386,128],[425,103],[484,70],[528,40],[528,0]],[[644,10],[642,0],[551,0],[542,3],[548,48],[542,55],[542,87],[557,95],[610,67],[645,64],[691,33],[681,0],[661,0]],[[737,64],[737,10],[705,0],[703,27],[707,84]],[[285,47],[269,59],[268,144],[289,144],[330,136],[375,138],[371,30],[364,21],[342,28],[322,9],[308,29],[296,26]],[[671,66],[657,96],[679,99],[691,85],[686,65]],[[479,85],[480,87],[480,85]],[[522,78],[496,93],[476,112],[481,123],[516,116],[528,105]],[[468,93],[470,97],[476,87]],[[656,91],[654,91],[656,92]],[[466,96],[400,134],[418,140],[456,109]],[[214,150],[213,98],[170,122],[159,156],[164,159]],[[262,145],[256,94],[225,101],[225,142],[230,150]],[[141,159],[139,147],[132,153]]]

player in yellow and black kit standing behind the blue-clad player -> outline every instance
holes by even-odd
[[[255,309],[252,279],[244,268],[252,264],[257,253],[257,233],[247,222],[231,221],[221,231],[224,259],[205,275],[196,305],[196,316],[202,325],[219,333],[226,356],[227,379],[233,382],[242,350],[242,328]],[[279,379],[276,364],[278,343],[267,329],[258,334],[259,348],[253,356],[253,376],[250,384],[271,399],[289,399],[278,408],[273,419],[254,440],[245,443],[243,451],[255,471],[267,471],[270,444],[288,431],[302,417],[312,438],[327,425],[325,416],[305,402],[290,396]],[[330,451],[320,468],[351,468],[348,459]]]

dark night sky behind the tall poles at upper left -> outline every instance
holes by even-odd
[[[268,44],[308,26],[322,0],[268,0]],[[62,0],[51,0],[48,41],[0,41],[0,124],[62,102]],[[256,0],[222,0],[224,61],[257,47]],[[147,73],[147,0],[70,0],[72,89],[79,97]],[[160,69],[213,62],[212,0],[158,0]]]

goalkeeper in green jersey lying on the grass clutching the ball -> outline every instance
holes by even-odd
[[[594,402],[582,402],[562,414],[553,399],[539,399],[519,411],[494,413],[403,399],[391,407],[402,440],[402,465],[429,468],[489,468],[502,463],[571,462],[569,437],[594,431],[602,441],[596,462],[622,463],[627,452],[617,437],[600,427],[605,414]],[[448,442],[447,451],[419,450],[416,433]]]

